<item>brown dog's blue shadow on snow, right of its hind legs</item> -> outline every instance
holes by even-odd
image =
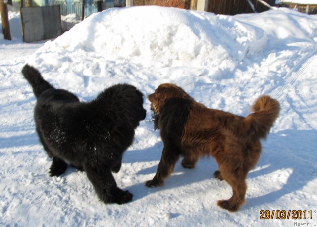
[[[258,197],[252,197],[249,194],[246,200],[247,206],[244,207],[275,202],[287,194],[303,190],[304,186],[316,179],[317,156],[314,152],[316,138],[316,130],[285,130],[271,134],[268,142],[262,143],[264,151],[257,164],[257,166],[266,167],[250,172],[247,179],[267,175],[267,177],[273,177],[273,179],[270,178],[271,184],[268,186],[278,187],[275,184],[281,186]]]

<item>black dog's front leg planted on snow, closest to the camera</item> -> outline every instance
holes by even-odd
[[[94,189],[104,203],[123,204],[132,200],[129,191],[123,191],[117,187],[110,168],[107,166],[85,166],[88,179],[92,182]]]

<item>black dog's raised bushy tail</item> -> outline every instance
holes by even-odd
[[[35,96],[38,98],[44,91],[54,89],[54,87],[43,79],[40,72],[32,66],[26,64],[22,69],[24,78],[31,84]]]

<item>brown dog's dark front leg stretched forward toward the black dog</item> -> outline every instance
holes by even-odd
[[[179,151],[177,149],[163,148],[162,156],[159,161],[157,173],[152,180],[145,182],[147,187],[157,187],[164,185],[164,179],[168,177],[173,171],[177,160],[179,159]]]

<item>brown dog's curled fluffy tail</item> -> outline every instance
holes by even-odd
[[[245,118],[247,131],[266,138],[280,111],[279,102],[268,95],[259,97],[251,107],[254,112]]]

